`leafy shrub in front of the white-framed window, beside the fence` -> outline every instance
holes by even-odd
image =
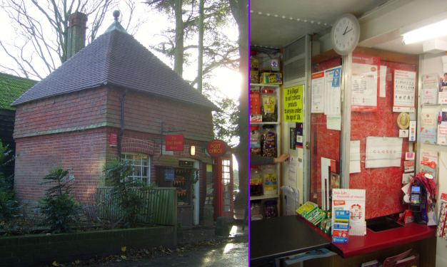
[[[127,178],[132,173],[132,166],[128,162],[116,160],[106,164],[104,172],[106,181],[113,187],[111,197],[116,199],[116,203],[123,213],[120,221],[124,224],[124,227],[135,226],[143,200],[133,189],[137,183]]]

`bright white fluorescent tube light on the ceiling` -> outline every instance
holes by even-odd
[[[442,36],[447,36],[447,19],[431,23],[421,28],[416,28],[413,31],[403,33],[403,43],[417,43],[421,41],[430,40]]]

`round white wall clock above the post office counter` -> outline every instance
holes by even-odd
[[[356,48],[360,37],[360,25],[352,14],[344,14],[333,23],[331,41],[333,50],[346,56]]]

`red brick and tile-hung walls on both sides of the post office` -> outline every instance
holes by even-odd
[[[109,88],[84,90],[17,108],[14,187],[19,199],[43,197],[42,177],[51,168],[62,167],[75,177],[76,199],[91,201],[96,186],[104,185],[105,162],[118,156],[117,147],[109,145],[109,134],[119,134],[121,93]],[[122,152],[151,156],[151,182],[156,179],[155,166],[169,164],[170,159],[211,162],[204,153],[206,142],[213,138],[211,110],[129,91],[124,121]],[[164,130],[184,130],[184,151],[161,155],[161,122]],[[196,156],[189,155],[191,145],[196,146]]]

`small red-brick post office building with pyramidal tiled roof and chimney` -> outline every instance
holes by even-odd
[[[72,14],[70,24],[69,50],[81,48],[86,16]],[[179,204],[184,204],[179,219],[186,225],[198,224],[208,182],[206,169],[211,169],[205,148],[214,136],[211,112],[216,106],[126,33],[117,20],[74,53],[12,104],[16,107],[14,187],[19,199],[41,198],[42,177],[52,167],[63,167],[75,177],[76,199],[91,203],[96,187],[105,185],[104,164],[121,150],[141,182],[166,187],[173,186],[167,173],[184,176],[190,190],[178,194]],[[183,151],[164,151],[164,137],[173,132],[184,136]],[[191,156],[193,145],[196,153]]]

